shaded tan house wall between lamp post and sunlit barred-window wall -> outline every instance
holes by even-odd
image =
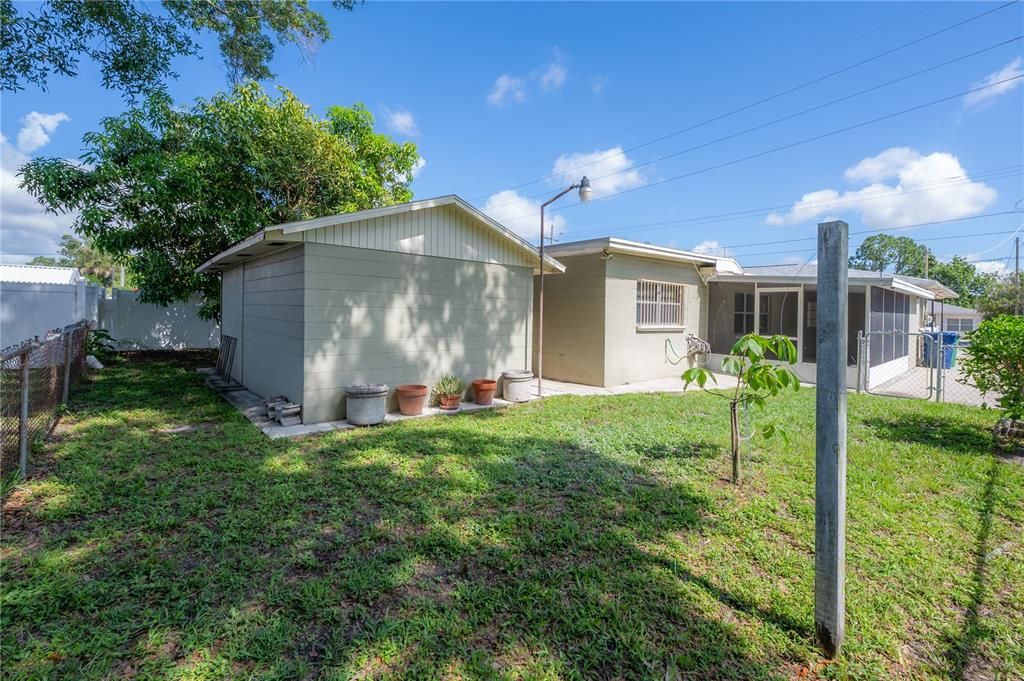
[[[544,376],[585,385],[605,385],[605,261],[596,254],[559,260],[565,271],[544,278]],[[537,280],[535,276],[535,318]],[[534,341],[536,348],[536,333]],[[536,374],[536,351],[532,366]]]

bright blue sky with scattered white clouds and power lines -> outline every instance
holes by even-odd
[[[265,85],[293,90],[317,113],[365,102],[380,129],[419,145],[426,163],[413,186],[418,198],[458,194],[535,242],[538,198],[585,173],[605,176],[595,191],[607,198],[589,205],[562,199],[553,213],[562,241],[610,235],[686,249],[732,247],[729,253],[744,264],[803,261],[813,242],[741,245],[812,237],[815,223],[830,217],[860,231],[1012,211],[1024,198],[1024,79],[702,171],[1020,75],[1024,41],[986,49],[1024,33],[1020,3],[645,142],[999,4],[370,2],[349,13],[324,3],[333,39],[311,61],[295,48],[279,48],[276,77]],[[212,42],[204,56],[176,65],[180,78],[170,91],[177,100],[227,87]],[[3,95],[5,261],[54,252],[70,224],[68,217],[41,215],[12,186],[17,163],[78,156],[82,134],[125,109],[117,92],[102,89],[91,65],[83,67],[76,79],[54,79],[47,92]],[[684,174],[690,175],[671,179]],[[755,210],[771,207],[777,208]],[[749,212],[711,217],[742,211]],[[938,238],[928,243],[940,256],[986,260],[1008,256],[1012,246],[1001,243],[1009,233],[990,232],[1013,231],[1022,220],[1001,215],[896,233]],[[862,238],[852,237],[851,245]]]

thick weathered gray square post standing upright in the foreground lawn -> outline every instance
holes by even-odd
[[[826,657],[846,628],[846,334],[849,225],[818,225],[814,632]]]

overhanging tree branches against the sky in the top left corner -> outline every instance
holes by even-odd
[[[333,0],[351,10],[355,0]],[[163,0],[159,11],[134,0],[46,0],[18,12],[0,0],[0,89],[45,89],[54,74],[76,76],[85,57],[99,65],[103,86],[128,96],[163,88],[175,57],[200,51],[216,36],[231,82],[262,80],[274,42],[305,52],[331,37],[307,0]]]

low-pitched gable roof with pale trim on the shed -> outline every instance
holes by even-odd
[[[256,233],[244,239],[224,251],[213,256],[202,265],[196,268],[197,272],[206,270],[218,270],[224,266],[233,266],[243,259],[256,255],[265,255],[271,252],[274,247],[290,246],[304,241],[303,232],[324,227],[338,227],[362,220],[373,220],[375,218],[397,215],[399,213],[410,213],[414,211],[431,208],[441,208],[452,206],[455,209],[471,217],[480,226],[484,227],[501,240],[508,243],[517,252],[525,255],[527,260],[535,263],[535,269],[540,264],[540,253],[538,250],[515,232],[508,229],[489,215],[476,209],[462,198],[450,194],[433,199],[422,199],[411,201],[404,204],[386,206],[384,208],[370,208],[351,213],[341,213],[339,215],[327,215],[324,217],[299,220],[296,222],[286,222],[260,229]],[[553,257],[545,254],[545,271],[565,271],[565,266]]]

